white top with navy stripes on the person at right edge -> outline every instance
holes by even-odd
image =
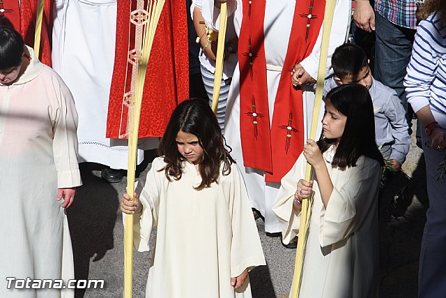
[[[446,115],[446,26],[440,28],[439,13],[418,25],[404,86],[414,112],[430,105]]]

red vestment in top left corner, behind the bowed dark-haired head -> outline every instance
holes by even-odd
[[[40,35],[40,55],[38,58],[51,66],[51,36],[53,1],[45,0],[42,33]],[[15,29],[22,35],[26,45],[34,46],[34,29],[36,27],[37,0],[3,0],[0,2],[0,26]],[[36,56],[38,54],[36,53]]]

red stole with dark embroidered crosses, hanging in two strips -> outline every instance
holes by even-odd
[[[302,89],[291,84],[291,70],[313,50],[323,21],[325,1],[296,2],[273,115],[268,114],[263,47],[265,7],[264,0],[243,0],[238,40],[240,134],[245,167],[264,170],[266,181],[280,182],[297,160],[304,144]]]

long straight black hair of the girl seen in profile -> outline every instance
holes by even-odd
[[[376,146],[374,106],[369,90],[360,84],[342,84],[328,92],[325,100],[347,117],[332,165],[355,167],[357,159],[362,155],[384,165],[383,156]],[[325,152],[333,142],[323,138],[318,145]]]

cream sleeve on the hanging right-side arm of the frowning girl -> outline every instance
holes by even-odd
[[[237,277],[245,269],[266,265],[245,181],[236,164],[231,166],[229,211],[232,222],[231,277]]]

